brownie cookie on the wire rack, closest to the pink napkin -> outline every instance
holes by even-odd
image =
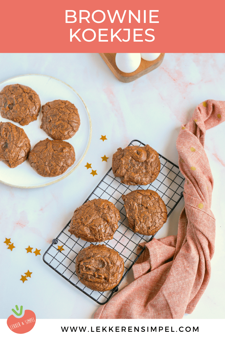
[[[136,190],[122,195],[129,226],[135,233],[154,235],[167,220],[166,205],[152,190]]]

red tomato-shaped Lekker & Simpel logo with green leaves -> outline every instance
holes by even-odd
[[[23,312],[23,306],[21,305],[19,310],[18,305],[16,305],[16,310],[12,309],[12,312],[14,312],[17,316],[21,316]],[[33,329],[35,322],[35,313],[32,310],[25,310],[22,317],[15,317],[13,315],[9,316],[7,319],[7,326],[11,331],[16,332],[17,334],[25,334],[26,332]]]

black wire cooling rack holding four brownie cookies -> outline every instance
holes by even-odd
[[[139,145],[144,146],[142,142],[133,140],[129,146]],[[132,268],[138,257],[142,254],[145,248],[137,252],[140,243],[151,241],[153,236],[144,236],[134,233],[128,225],[124,203],[121,199],[122,194],[129,193],[136,189],[151,189],[157,191],[166,204],[168,216],[174,210],[183,196],[184,177],[179,171],[179,167],[159,154],[161,162],[161,170],[156,180],[149,185],[123,185],[120,179],[114,177],[112,168],[107,172],[100,183],[95,187],[87,200],[95,198],[107,199],[111,201],[120,211],[120,220],[118,229],[116,230],[113,239],[105,241],[104,244],[115,249],[124,260],[124,273],[119,284],[123,281],[126,274]],[[112,290],[106,292],[97,292],[84,286],[78,279],[75,271],[75,260],[78,252],[89,246],[91,243],[77,239],[74,235],[68,232],[70,221],[63,228],[56,239],[52,240],[51,246],[47,249],[43,256],[44,262],[54,269],[59,275],[73,284],[81,292],[86,294],[92,300],[99,304],[105,304],[111,296],[118,290],[119,284]],[[99,244],[99,243],[93,243]],[[59,247],[62,248],[59,250]]]

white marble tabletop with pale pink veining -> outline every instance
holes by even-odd
[[[0,54],[0,81],[38,73],[71,85],[84,99],[92,119],[92,140],[81,165],[64,180],[38,189],[0,184],[1,308],[7,318],[15,304],[37,318],[92,318],[99,307],[42,261],[52,239],[111,167],[112,155],[133,139],[150,144],[177,163],[176,137],[194,108],[206,99],[225,100],[224,54],[166,54],[162,65],[131,83],[119,82],[98,54]],[[206,132],[205,149],[214,177],[212,211],[216,217],[216,251],[212,276],[189,318],[224,318],[225,152],[224,125]],[[105,142],[100,140],[106,135]],[[102,162],[101,157],[109,157]],[[97,175],[84,165],[92,163]],[[181,201],[157,234],[176,234]],[[14,243],[7,249],[6,238]],[[41,249],[41,256],[25,248]],[[31,278],[24,284],[21,274]],[[132,272],[123,285],[131,282]]]

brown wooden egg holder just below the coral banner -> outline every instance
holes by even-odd
[[[137,80],[139,77],[147,74],[148,72],[156,69],[162,62],[165,53],[161,53],[160,56],[154,61],[146,61],[141,59],[141,63],[137,70],[133,72],[123,72],[116,66],[116,53],[99,53],[102,59],[106,62],[109,69],[116,76],[120,82],[128,83]]]

